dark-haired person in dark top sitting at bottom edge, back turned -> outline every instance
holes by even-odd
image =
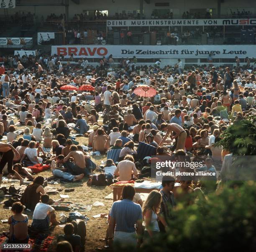
[[[64,234],[60,234],[58,236],[57,242],[67,241],[71,244],[74,252],[79,252],[81,249],[81,237],[77,234],[74,234],[74,225],[72,223],[67,223],[63,231]]]

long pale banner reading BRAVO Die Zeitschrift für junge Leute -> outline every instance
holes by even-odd
[[[256,57],[256,45],[216,45],[216,46],[51,46],[51,54],[58,54],[68,58],[102,58],[113,55],[113,58],[143,59],[200,59],[209,54],[217,59],[233,59]]]

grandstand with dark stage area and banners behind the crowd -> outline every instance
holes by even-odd
[[[185,64],[216,65],[235,63],[235,56],[241,62],[256,56],[256,3],[250,0],[215,0],[204,3],[204,8],[200,0],[131,0],[129,6],[123,0],[95,0],[93,5],[89,0],[15,0],[10,7],[0,8],[3,53],[21,48],[56,52],[56,46],[64,45],[78,46],[79,51],[82,45],[95,45],[107,48],[106,55],[113,51],[115,59],[136,56],[138,62],[163,59],[163,64],[174,64],[181,58]],[[15,41],[17,37],[24,38],[23,43]],[[190,51],[203,49],[204,53],[182,54],[188,46]],[[164,57],[162,53],[136,53],[148,48],[177,48],[179,53]],[[135,52],[123,53],[126,49]],[[105,54],[74,56],[97,62]]]

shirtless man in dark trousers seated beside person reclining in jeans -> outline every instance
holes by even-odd
[[[69,158],[73,158],[73,162],[68,161]],[[90,160],[90,156],[84,155],[82,151],[77,150],[76,145],[70,146],[70,153],[64,158],[63,162],[68,172],[71,172],[74,175],[84,173],[84,175],[90,176],[92,171],[96,168],[96,165]]]

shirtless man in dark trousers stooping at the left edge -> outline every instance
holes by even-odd
[[[14,153],[17,155],[17,157],[20,156],[20,153],[15,150],[13,145],[10,145],[8,143],[0,143],[0,152],[3,153],[3,156],[0,160],[0,185],[3,177],[3,168],[5,167],[6,163],[8,172],[12,175],[15,174],[15,176],[20,180],[20,185],[22,185],[24,179],[19,175],[19,173],[13,170]]]

